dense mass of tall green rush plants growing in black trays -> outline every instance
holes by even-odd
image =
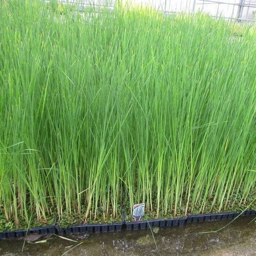
[[[141,202],[147,218],[255,208],[254,27],[230,40],[238,25],[200,13],[56,10],[0,5],[7,223],[120,221]]]

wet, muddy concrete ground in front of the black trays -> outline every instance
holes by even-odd
[[[55,235],[31,239],[33,242],[7,239],[0,241],[0,255],[256,255],[255,216],[238,218],[219,232],[199,233],[220,229],[228,223],[230,220],[187,223],[154,232],[146,229],[93,233],[87,239],[65,236],[73,241]]]

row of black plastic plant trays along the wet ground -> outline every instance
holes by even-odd
[[[238,216],[253,216],[256,215],[255,210],[246,210],[243,213],[217,213],[217,214],[196,214],[189,215],[186,218],[170,218],[167,220],[154,219],[154,220],[143,220],[143,221],[126,221],[123,214],[123,221],[120,223],[110,224],[79,224],[68,227],[60,227],[58,225],[45,226],[45,227],[34,227],[29,230],[15,230],[15,231],[4,231],[0,232],[0,239],[7,238],[20,238],[32,233],[38,233],[39,235],[46,235],[48,233],[64,235],[71,233],[99,233],[99,232],[114,232],[122,229],[126,230],[138,230],[148,229],[151,227],[175,227],[183,226],[185,223],[195,223],[202,221],[212,220],[225,220],[232,219]]]

